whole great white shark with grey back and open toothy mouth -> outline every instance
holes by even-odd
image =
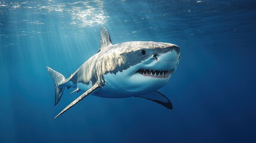
[[[171,101],[158,89],[166,85],[180,59],[180,48],[172,43],[132,41],[113,45],[109,32],[101,27],[98,52],[67,79],[47,67],[55,85],[55,105],[65,88],[82,93],[54,119],[88,95],[140,97],[172,109]]]

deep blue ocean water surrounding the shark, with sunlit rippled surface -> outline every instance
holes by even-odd
[[[256,142],[256,2],[0,1],[0,142]],[[141,98],[79,94],[54,105],[45,66],[68,77],[113,43],[169,42],[177,71],[160,89],[173,110]]]

